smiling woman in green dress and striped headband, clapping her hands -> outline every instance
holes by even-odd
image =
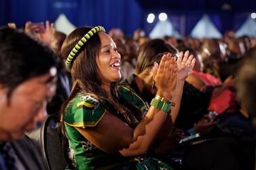
[[[62,130],[69,140],[69,166],[171,169],[144,154],[170,113],[177,64],[174,58],[165,55],[159,68],[155,66],[158,98],[154,102],[158,104],[149,108],[132,89],[118,84],[120,54],[104,31],[101,26],[77,28],[62,45],[61,53],[67,58],[73,81],[71,95],[62,106]]]

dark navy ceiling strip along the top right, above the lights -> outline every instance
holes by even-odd
[[[137,0],[146,10],[255,12],[256,0]]]

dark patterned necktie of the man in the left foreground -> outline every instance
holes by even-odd
[[[5,166],[8,170],[16,170],[14,150],[9,142],[0,142],[0,154],[3,156]]]

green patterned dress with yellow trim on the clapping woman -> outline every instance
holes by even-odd
[[[127,102],[141,110],[141,113],[147,112],[147,106],[134,91],[122,86],[118,89],[121,97]],[[69,139],[69,160],[73,169],[116,169],[117,167],[117,169],[159,169],[159,167],[170,169],[168,165],[156,159],[144,158],[143,161],[136,161],[134,165],[133,158],[113,156],[103,152],[75,129],[75,127],[95,127],[107,110],[113,112],[115,109],[107,103],[102,104],[90,95],[81,93],[69,102],[65,109],[64,121],[66,135]],[[132,163],[134,168],[132,168]]]

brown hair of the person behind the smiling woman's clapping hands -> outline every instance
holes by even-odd
[[[141,45],[135,68],[136,75],[139,75],[148,66],[153,66],[153,58],[165,52],[176,56],[179,51],[163,39],[152,39]]]

